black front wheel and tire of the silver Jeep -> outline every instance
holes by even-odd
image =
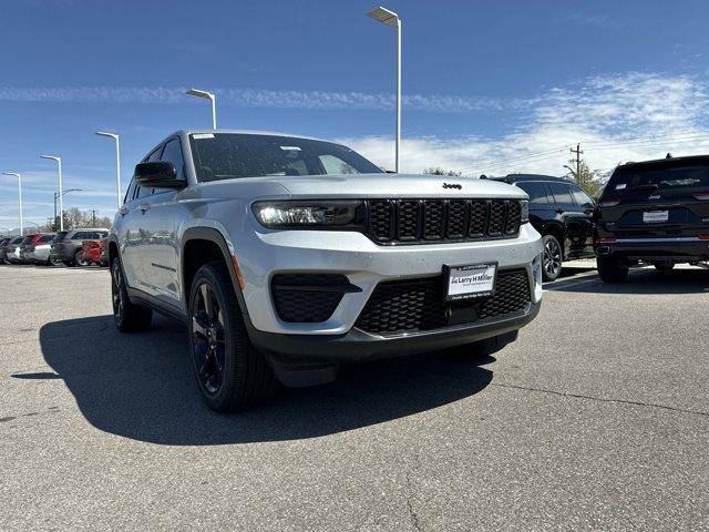
[[[251,344],[232,279],[222,263],[202,266],[189,290],[188,348],[197,385],[213,410],[247,410],[268,400],[277,381]]]

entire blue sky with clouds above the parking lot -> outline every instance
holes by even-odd
[[[392,166],[391,28],[373,2],[0,0],[0,171],[24,176],[25,217],[114,209],[124,184],[179,127],[209,125],[346,141]],[[390,1],[403,20],[404,171],[564,173],[582,143],[592,167],[705,151],[709,2]],[[17,184],[0,181],[0,227]]]

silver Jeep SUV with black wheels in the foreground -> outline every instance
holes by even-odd
[[[153,309],[183,319],[219,411],[264,401],[276,379],[331,381],[346,361],[494,352],[540,309],[542,252],[517,187],[227,131],[155,146],[109,236],[119,330],[148,328]]]

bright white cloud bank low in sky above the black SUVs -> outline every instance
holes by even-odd
[[[507,135],[408,139],[402,170],[428,166],[463,170],[471,175],[513,172],[562,175],[578,142],[592,168],[619,162],[706,153],[707,88],[689,76],[627,73],[596,76],[576,86],[538,96],[522,123]],[[393,167],[391,139],[341,139],[376,163]]]

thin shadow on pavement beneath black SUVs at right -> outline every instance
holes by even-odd
[[[599,277],[559,279],[544,285],[548,291],[584,294],[703,294],[709,293],[709,270],[676,269],[667,274],[654,268],[630,269],[624,283],[606,284]]]

